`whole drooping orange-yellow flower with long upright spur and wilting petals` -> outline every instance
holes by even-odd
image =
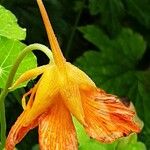
[[[38,83],[22,98],[23,113],[11,128],[6,150],[13,150],[27,132],[39,126],[41,150],[77,150],[72,116],[85,127],[89,136],[101,142],[113,142],[131,132],[140,132],[134,121],[134,109],[117,96],[98,89],[80,69],[66,62],[42,0],[37,0],[48,33],[54,63],[24,73],[13,85],[42,74]],[[26,105],[25,97],[29,96]]]

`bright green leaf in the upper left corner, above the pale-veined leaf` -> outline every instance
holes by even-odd
[[[24,40],[26,30],[19,27],[17,18],[0,5],[0,35],[9,39]]]

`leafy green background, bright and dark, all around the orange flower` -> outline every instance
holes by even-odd
[[[75,120],[79,149],[150,149],[150,1],[43,0],[43,2],[67,60],[84,70],[100,88],[130,99],[144,123],[144,128],[138,136],[133,134],[112,144],[102,144],[90,139]],[[35,42],[49,44],[35,0],[1,0],[0,5],[2,89],[13,58],[17,57],[25,45]],[[36,66],[35,56],[38,65],[48,62],[45,55],[35,52],[22,62],[16,78]],[[7,61],[4,59],[6,57]],[[37,79],[30,81],[26,87],[23,85],[7,96],[5,102],[7,131],[22,111],[20,105],[22,94],[36,81]],[[17,145],[17,149],[37,150],[36,130],[31,131]]]

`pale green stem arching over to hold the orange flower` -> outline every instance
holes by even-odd
[[[28,52],[33,51],[33,50],[40,50],[40,51],[44,52],[48,56],[48,58],[51,60],[51,62],[54,61],[53,55],[52,55],[50,49],[42,44],[37,44],[37,43],[31,44],[31,45],[25,47],[24,50],[21,51],[21,53],[17,57],[14,65],[12,66],[11,71],[8,75],[6,85],[0,95],[0,123],[1,123],[1,147],[0,147],[0,149],[4,147],[5,141],[6,141],[6,117],[5,117],[5,105],[4,105],[5,97],[7,96],[8,92],[9,92],[8,88],[13,83],[13,79],[17,72],[19,64],[21,63],[23,58],[28,54]]]

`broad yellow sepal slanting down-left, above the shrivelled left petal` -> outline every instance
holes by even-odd
[[[54,102],[54,97],[57,95],[58,90],[57,67],[52,66],[43,73],[38,82],[34,102],[28,114],[30,120],[34,120],[36,117],[47,111],[50,105]],[[28,121],[26,124],[28,125]]]

